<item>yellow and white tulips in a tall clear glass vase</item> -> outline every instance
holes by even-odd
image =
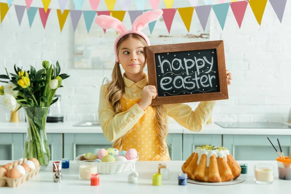
[[[40,165],[46,167],[50,159],[45,130],[49,106],[58,100],[53,99],[56,90],[63,87],[62,81],[69,76],[60,74],[59,62],[55,66],[43,61],[42,66],[38,71],[33,66],[29,71],[23,71],[14,65],[16,74],[10,75],[5,68],[7,75],[0,75],[0,79],[6,81],[0,81],[7,84],[0,87],[0,95],[4,95],[2,103],[8,109],[16,109],[16,103],[20,105],[16,111],[24,107],[28,123],[24,157],[36,158]]]

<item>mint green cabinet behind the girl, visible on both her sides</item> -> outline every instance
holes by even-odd
[[[182,160],[182,134],[168,134],[167,144],[171,160]],[[64,134],[64,157],[70,160],[81,154],[93,152],[96,148],[108,148],[109,142],[103,133]]]

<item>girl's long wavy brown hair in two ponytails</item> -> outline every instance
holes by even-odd
[[[128,38],[135,38],[139,40],[144,46],[147,46],[146,41],[143,37],[135,33],[130,33],[123,36],[117,43],[117,54],[119,53],[121,43],[127,40]],[[125,84],[124,84],[123,77],[121,74],[120,65],[118,62],[115,62],[113,72],[112,72],[112,81],[109,83],[108,88],[107,88],[107,94],[108,94],[107,100],[113,107],[115,114],[121,112],[120,99],[123,97],[124,93],[125,93]],[[160,155],[164,156],[167,151],[167,144],[166,144],[167,126],[164,120],[163,106],[162,105],[153,106],[153,108],[155,110],[155,120],[156,120],[156,124],[158,128],[157,133],[159,137]],[[130,130],[128,131],[128,133],[129,132]],[[113,147],[118,150],[122,150],[123,140],[128,133],[126,133],[125,135],[117,139],[113,143]]]

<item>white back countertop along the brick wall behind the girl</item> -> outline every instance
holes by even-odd
[[[74,127],[78,122],[47,123],[47,133],[103,133],[101,127]],[[26,133],[25,122],[0,122],[0,133]],[[215,123],[207,124],[201,131],[193,132],[177,122],[168,124],[169,133],[183,134],[231,134],[231,135],[291,135],[291,129],[222,128]]]

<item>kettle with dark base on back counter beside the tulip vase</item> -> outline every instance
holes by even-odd
[[[64,114],[62,112],[61,107],[61,95],[55,95],[53,99],[59,98],[58,101],[50,105],[49,107],[49,113],[47,117],[48,123],[60,123],[64,122]]]

